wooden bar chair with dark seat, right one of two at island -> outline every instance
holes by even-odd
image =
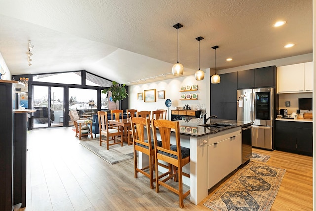
[[[190,162],[190,149],[181,147],[179,121],[154,120],[152,119],[152,130],[155,148],[155,171],[156,171],[156,192],[159,192],[159,186],[162,185],[172,192],[179,195],[179,207],[183,208],[183,199],[190,194],[190,190],[183,193],[182,175],[190,178],[190,174],[182,172],[182,167]],[[157,145],[157,129],[160,133],[162,146]],[[176,144],[170,145],[171,129],[175,131]],[[158,160],[169,164],[169,176],[160,180],[158,171]],[[173,170],[172,170],[173,169]],[[166,183],[170,179],[178,180],[178,189]]]

